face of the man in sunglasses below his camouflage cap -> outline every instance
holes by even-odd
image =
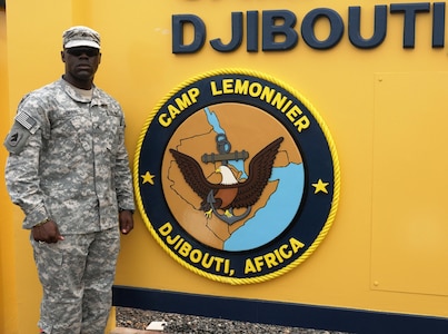
[[[101,62],[99,49],[89,47],[76,47],[64,49],[61,52],[66,63],[66,75],[77,81],[91,81]]]

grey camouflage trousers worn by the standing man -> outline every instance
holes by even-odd
[[[112,302],[119,230],[63,236],[56,244],[31,237],[43,288],[38,326],[46,334],[103,334]]]

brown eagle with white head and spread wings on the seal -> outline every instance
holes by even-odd
[[[250,213],[251,206],[260,198],[271,176],[273,160],[282,141],[283,137],[277,138],[250,160],[247,179],[237,179],[229,165],[220,165],[216,169],[216,173],[221,175],[219,184],[210,183],[192,157],[176,149],[170,149],[170,153],[186,183],[202,199],[200,209],[205,212],[206,217],[211,218],[215,213],[230,225],[245,218]],[[233,215],[236,208],[246,208],[246,212],[236,216]]]

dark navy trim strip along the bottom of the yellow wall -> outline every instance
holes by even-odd
[[[448,318],[179,292],[113,287],[113,305],[251,323],[366,334],[448,333]]]

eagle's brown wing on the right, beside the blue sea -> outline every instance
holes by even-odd
[[[251,206],[260,198],[271,176],[273,160],[282,141],[283,137],[277,138],[250,160],[249,177],[239,184],[238,195],[231,205],[233,208]]]

